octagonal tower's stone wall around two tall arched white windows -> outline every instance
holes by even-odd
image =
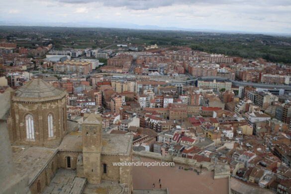
[[[40,98],[41,100],[41,98]],[[11,143],[56,147],[67,133],[66,97],[48,101],[14,101],[7,121]],[[34,140],[27,141],[25,116],[33,116]],[[48,115],[53,115],[53,137],[48,137]]]

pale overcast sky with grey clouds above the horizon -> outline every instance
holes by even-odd
[[[0,0],[0,24],[130,24],[291,34],[291,0]]]

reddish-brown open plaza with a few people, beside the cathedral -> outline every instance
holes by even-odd
[[[137,159],[137,158],[134,158]],[[148,158],[140,158],[142,162],[154,162]],[[135,162],[134,160],[133,162]],[[159,161],[157,161],[159,162]],[[133,189],[149,190],[160,188],[169,189],[169,194],[227,194],[228,179],[213,179],[213,172],[202,170],[202,174],[197,175],[194,171],[185,171],[175,167],[136,167],[133,166]],[[200,171],[200,169],[197,169]]]

